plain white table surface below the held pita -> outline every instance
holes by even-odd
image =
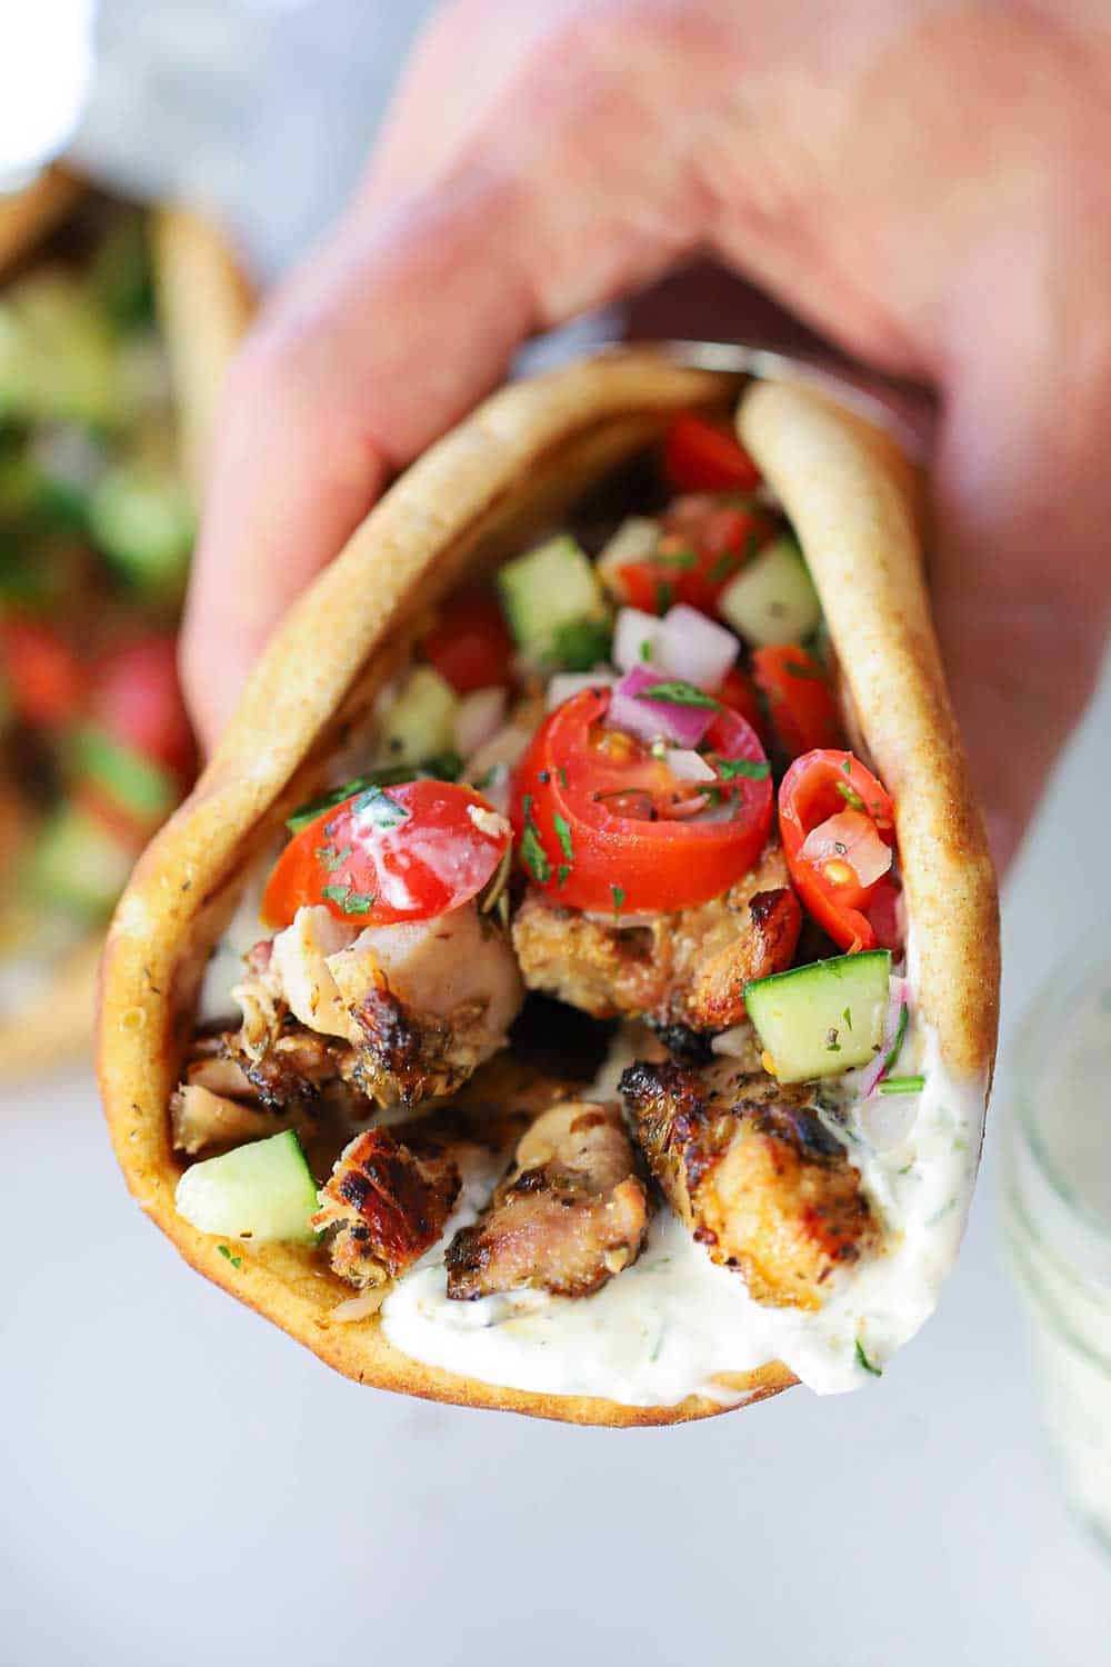
[[[1008,897],[1011,1019],[1091,919],[1109,740],[1111,677]],[[625,1434],[333,1375],[142,1219],[87,1075],[0,1127],[13,1667],[1106,1660],[1111,1562],[1036,1427],[991,1142],[946,1300],[881,1384]]]

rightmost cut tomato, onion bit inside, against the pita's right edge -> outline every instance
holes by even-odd
[[[884,787],[851,752],[820,750],[796,758],[780,783],[780,835],[795,889],[808,914],[846,950],[874,949],[868,910],[886,877],[863,884],[844,854],[806,855],[808,835],[851,812],[861,834],[894,845],[894,807]],[[891,884],[889,880],[886,884]]]

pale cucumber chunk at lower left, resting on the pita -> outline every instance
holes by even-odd
[[[193,1164],[178,1180],[175,1204],[202,1234],[253,1244],[315,1239],[308,1219],[316,1209],[316,1182],[291,1129]]]

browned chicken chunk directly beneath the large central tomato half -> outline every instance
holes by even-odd
[[[525,984],[596,1019],[728,1030],[745,985],[791,964],[803,914],[778,845],[723,897],[671,915],[611,919],[561,909],[530,887],[513,920]]]

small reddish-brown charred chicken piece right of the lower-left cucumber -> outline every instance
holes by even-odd
[[[410,1129],[356,1135],[311,1219],[318,1230],[335,1229],[331,1267],[360,1289],[388,1284],[431,1249],[460,1192],[460,1169],[448,1144]]]

